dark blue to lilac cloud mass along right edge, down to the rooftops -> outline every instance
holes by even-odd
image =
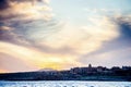
[[[130,61],[131,57],[131,16],[122,14],[119,16],[114,15],[110,17],[110,21],[117,26],[119,36],[108,41],[104,41],[103,46],[95,51],[80,55],[79,59],[81,62],[92,62],[95,65],[105,64],[108,66],[130,65],[130,62],[127,62],[127,60]]]

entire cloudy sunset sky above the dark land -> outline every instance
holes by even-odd
[[[0,0],[0,73],[131,65],[131,0]]]

